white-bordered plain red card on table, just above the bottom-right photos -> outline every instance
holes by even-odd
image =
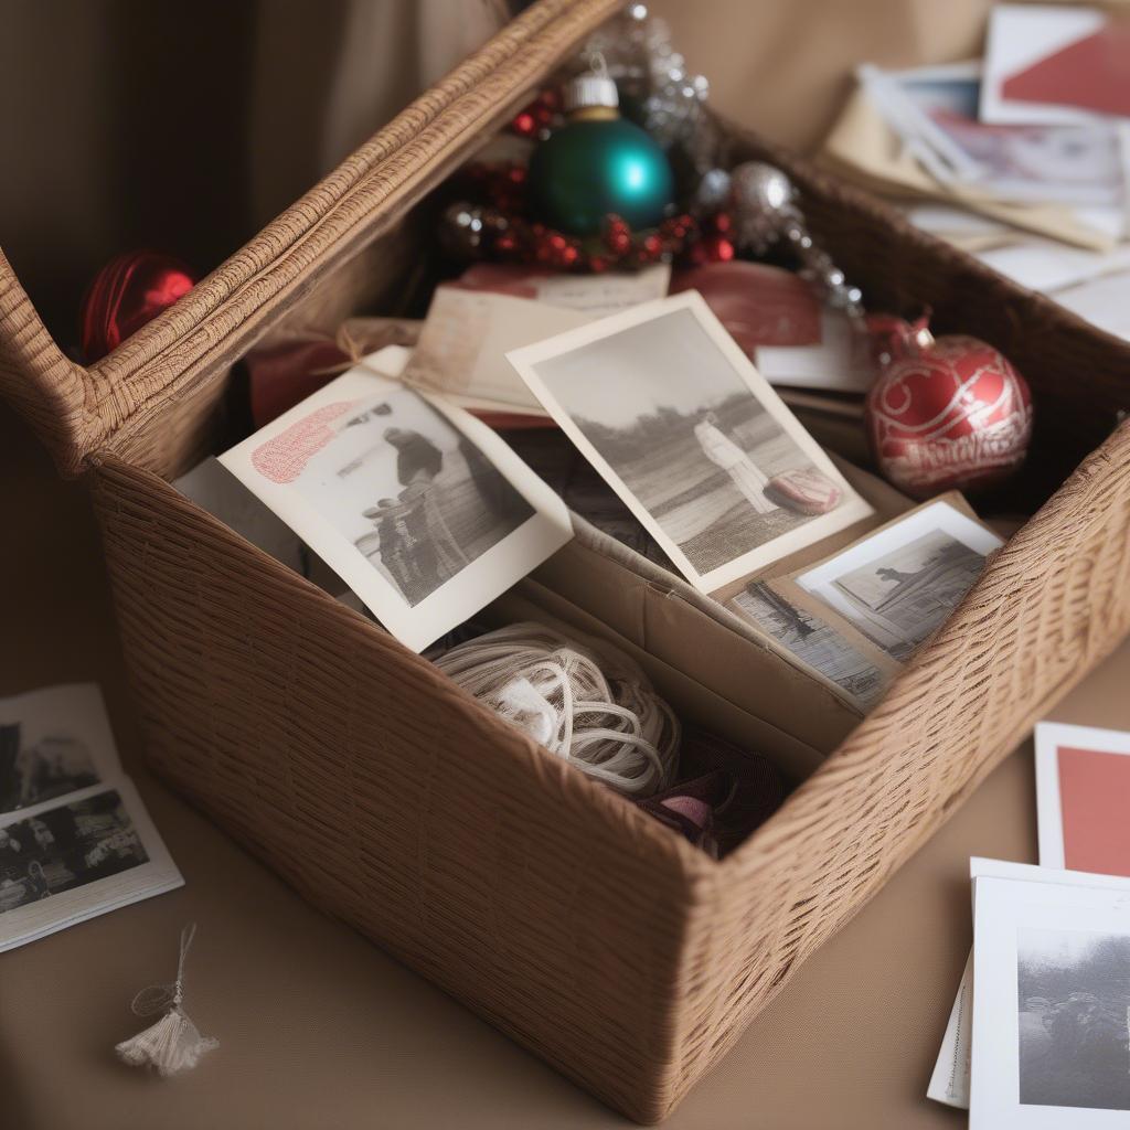
[[[1130,876],[1130,733],[1041,722],[1036,811],[1044,867]]]

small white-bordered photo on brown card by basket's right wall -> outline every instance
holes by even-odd
[[[912,511],[799,573],[796,583],[903,663],[976,583],[1003,541],[948,503]]]

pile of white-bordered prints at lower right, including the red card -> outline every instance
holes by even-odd
[[[1040,867],[973,859],[974,948],[927,1094],[970,1125],[1130,1122],[1130,733],[1036,728]]]

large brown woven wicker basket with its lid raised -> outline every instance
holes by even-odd
[[[774,696],[765,744],[831,756],[722,862],[504,728],[167,480],[215,443],[229,366],[268,330],[311,296],[341,315],[388,306],[410,209],[617,7],[534,5],[89,370],[0,258],[0,391],[90,484],[154,767],[307,897],[654,1121],[1130,629],[1130,353],[733,134],[736,159],[791,172],[872,306],[929,305],[1027,376],[1036,434],[1008,502],[1033,516],[866,721],[841,710],[812,732],[806,688]],[[634,625],[664,690],[737,719],[740,688],[696,669],[721,649],[748,657],[731,683],[757,683],[750,641],[598,538],[567,553],[510,594],[515,614],[572,601],[594,629]],[[568,592],[579,563],[601,581],[588,597]]]

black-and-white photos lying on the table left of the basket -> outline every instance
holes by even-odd
[[[97,686],[0,702],[0,953],[183,883]]]

